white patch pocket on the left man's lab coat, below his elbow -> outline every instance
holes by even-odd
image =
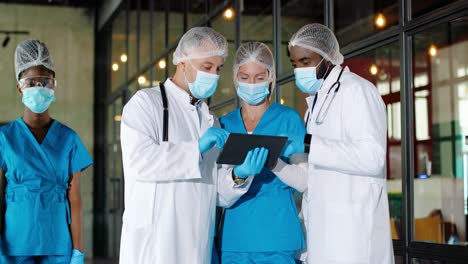
[[[129,229],[149,227],[153,223],[156,183],[135,182],[130,203],[126,206],[124,221]]]

